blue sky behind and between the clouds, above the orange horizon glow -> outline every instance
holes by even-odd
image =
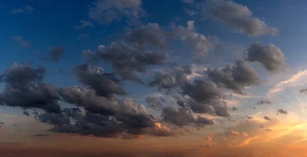
[[[114,2],[118,2],[119,4],[123,3],[122,0],[116,0]],[[224,46],[222,52],[218,52],[217,48],[212,48],[208,54],[204,56],[199,55],[193,52],[193,49],[184,42],[186,40],[181,39],[183,36],[189,36],[184,31],[180,32],[182,34],[178,37],[174,37],[177,34],[172,34],[170,35],[171,37],[167,37],[166,42],[168,46],[164,49],[160,50],[155,45],[149,46],[148,49],[151,51],[155,50],[166,54],[166,61],[176,63],[176,68],[179,68],[181,65],[191,65],[193,73],[187,75],[187,82],[191,83],[196,79],[207,79],[210,77],[206,72],[207,69],[216,67],[224,68],[227,63],[235,64],[235,61],[238,59],[245,59],[248,65],[251,65],[258,73],[259,79],[261,79],[260,84],[257,84],[255,80],[247,84],[243,83],[243,91],[246,95],[238,93],[235,91],[235,88],[227,85],[227,87],[218,87],[224,95],[232,95],[229,98],[223,99],[227,101],[228,107],[236,107],[238,109],[238,111],[230,111],[231,118],[216,113],[198,113],[192,109],[194,111],[192,115],[195,119],[197,115],[201,115],[212,119],[216,123],[216,128],[211,127],[208,130],[217,132],[226,127],[234,127],[242,130],[242,127],[237,127],[241,126],[241,122],[238,121],[242,121],[242,117],[246,115],[253,116],[254,122],[257,122],[257,124],[265,123],[262,117],[269,115],[273,119],[276,119],[276,121],[279,121],[274,122],[274,125],[273,122],[268,122],[268,125],[276,129],[282,129],[280,121],[283,118],[276,117],[276,110],[279,108],[287,110],[290,113],[290,117],[288,118],[295,119],[295,122],[301,122],[307,118],[305,116],[305,109],[307,109],[305,102],[307,98],[303,94],[299,94],[299,90],[305,88],[307,84],[307,81],[305,81],[307,80],[307,66],[305,64],[305,50],[307,50],[307,44],[305,44],[307,35],[305,15],[307,14],[307,10],[305,6],[307,3],[305,1],[129,0],[126,2],[130,3],[129,5],[131,6],[136,5],[136,7],[129,6],[122,9],[118,6],[113,6],[114,8],[111,8],[111,11],[106,9],[106,11],[115,13],[119,17],[118,19],[113,18],[108,22],[101,22],[98,18],[91,16],[91,11],[95,9],[95,6],[99,6],[98,4],[103,4],[104,6],[112,4],[111,1],[12,0],[0,2],[0,17],[2,19],[0,25],[0,51],[2,52],[0,71],[6,71],[14,62],[28,64],[32,61],[34,63],[31,64],[33,68],[41,65],[47,69],[46,77],[42,80],[43,82],[51,83],[55,87],[69,88],[74,85],[80,86],[80,81],[76,79],[74,74],[70,73],[70,70],[75,64],[86,61],[86,58],[84,56],[82,57],[82,51],[91,50],[93,53],[98,53],[99,46],[103,45],[108,47],[111,42],[124,40],[126,32],[145,27],[148,23],[159,24],[159,27],[163,31],[170,34],[175,30],[174,28],[183,26],[184,31],[192,35],[194,35],[193,33],[203,34],[207,39],[210,39],[210,36],[215,36],[219,39],[219,43]],[[141,5],[138,5],[138,2],[141,2]],[[208,4],[206,4],[207,2]],[[218,18],[213,15],[215,13],[213,11],[212,15],[209,13],[208,18],[205,18],[204,14],[210,12],[210,8],[206,8],[208,6],[210,7],[210,3],[218,4],[224,2],[236,4],[242,10],[246,7],[245,9],[249,10],[252,14],[247,17],[242,15],[242,18],[247,18],[247,22],[254,22],[253,20],[257,18],[258,26],[251,26],[250,24],[243,25],[241,23],[243,26],[237,27],[242,27],[243,29],[236,29],[235,24],[238,24],[240,19],[234,16],[239,16],[240,14],[231,16],[232,21],[230,22],[226,19],[228,16],[226,17],[225,15],[224,17],[223,15]],[[103,8],[103,5],[100,7]],[[235,10],[238,8],[232,9]],[[131,25],[127,20],[136,20],[136,24]],[[234,20],[239,20],[239,22],[236,23]],[[193,21],[192,25],[195,29],[189,29],[187,26],[189,25],[189,21]],[[262,27],[262,25],[265,25],[263,27],[273,28],[278,31],[261,33],[257,30],[257,27]],[[171,26],[174,26],[174,28]],[[247,27],[255,29],[256,31],[252,32],[254,34],[249,34],[249,30],[246,30]],[[257,34],[259,33],[257,31],[260,34]],[[245,58],[248,53],[252,53],[249,52],[248,48],[252,47],[251,43],[254,42],[260,42],[266,46],[272,43],[276,49],[279,48],[281,54],[284,55],[284,58],[281,57],[281,60],[282,62],[286,62],[284,69],[279,71],[277,68],[270,71],[266,68],[266,57],[270,54],[260,56],[260,58],[254,61]],[[214,44],[214,41],[212,43]],[[48,56],[48,51],[52,47],[63,48],[65,55],[58,62],[41,59],[42,56]],[[204,47],[202,47],[203,49]],[[271,47],[267,53],[276,53],[277,50],[275,51],[273,49]],[[99,58],[97,55],[96,57]],[[200,59],[201,62],[195,62],[195,59]],[[114,72],[112,65],[103,59],[97,65],[101,66],[105,72]],[[95,65],[93,64],[92,66]],[[148,87],[147,84],[153,80],[156,72],[169,72],[171,68],[169,64],[147,66],[147,68],[145,73],[138,73],[138,76],[145,84],[136,83],[131,80],[123,80],[123,88],[127,93],[131,94],[126,96],[118,95],[118,97],[129,97],[137,103],[144,104],[148,112],[159,119],[161,118],[161,110],[148,107],[145,101],[146,97],[162,96],[165,99],[163,107],[174,106],[179,108],[173,96],[181,95],[182,93],[178,93],[177,89],[182,89],[182,87],[180,85],[172,87],[170,94],[167,94],[165,89],[158,91],[157,85]],[[61,74],[58,69],[62,69],[64,73]],[[120,78],[120,75],[118,74],[117,76]],[[215,80],[218,80],[218,78],[211,81],[214,84],[218,84],[218,81],[215,82]],[[243,81],[233,82],[233,84],[240,84]],[[0,83],[0,91],[4,89],[5,82],[2,82]],[[189,96],[192,97],[191,95]],[[270,101],[272,104],[257,105],[257,102],[260,100]],[[214,106],[211,105],[211,107]],[[256,107],[257,109],[255,110],[251,107]],[[31,107],[28,108],[28,111],[30,110]],[[43,110],[40,111],[43,112]],[[23,109],[0,106],[0,114],[23,117]],[[225,126],[224,124],[219,124],[221,120],[226,123]],[[232,124],[227,120],[235,120],[236,122]],[[16,123],[15,119],[9,120],[7,118],[5,122]],[[168,126],[167,121],[162,120],[161,122],[165,122],[165,125]],[[291,122],[289,122],[289,125],[291,125]],[[169,124],[168,127],[170,128],[171,126],[174,126],[174,124]],[[287,127],[286,124],[284,127]],[[204,131],[206,132],[207,130]],[[283,132],[282,136],[284,134]],[[259,137],[259,134],[253,134],[251,131],[251,136],[256,138]]]

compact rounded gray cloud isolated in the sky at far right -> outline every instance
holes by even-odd
[[[246,60],[258,61],[271,73],[282,71],[286,65],[280,48],[275,47],[272,43],[266,45],[261,42],[252,42],[246,53]]]

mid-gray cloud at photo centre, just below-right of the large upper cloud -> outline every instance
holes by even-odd
[[[150,87],[158,86],[158,90],[170,89],[187,82],[187,75],[192,74],[190,65],[183,65],[181,68],[172,69],[170,72],[159,71],[155,74],[155,78],[148,83]]]

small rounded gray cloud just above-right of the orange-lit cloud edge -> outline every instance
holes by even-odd
[[[175,108],[173,106],[164,107],[161,117],[163,121],[177,126],[185,126],[195,123],[195,119],[191,115],[191,111],[185,108]]]

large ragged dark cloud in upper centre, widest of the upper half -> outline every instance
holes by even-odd
[[[162,65],[166,59],[164,53],[145,49],[149,45],[161,48],[165,44],[163,41],[158,41],[160,40],[158,27],[158,24],[147,24],[135,31],[128,29],[123,41],[112,42],[106,47],[99,46],[96,53],[89,50],[83,51],[82,55],[92,63],[100,61],[110,63],[112,70],[123,80],[144,84],[137,73],[145,73],[149,65]],[[159,37],[155,37],[155,35]]]

